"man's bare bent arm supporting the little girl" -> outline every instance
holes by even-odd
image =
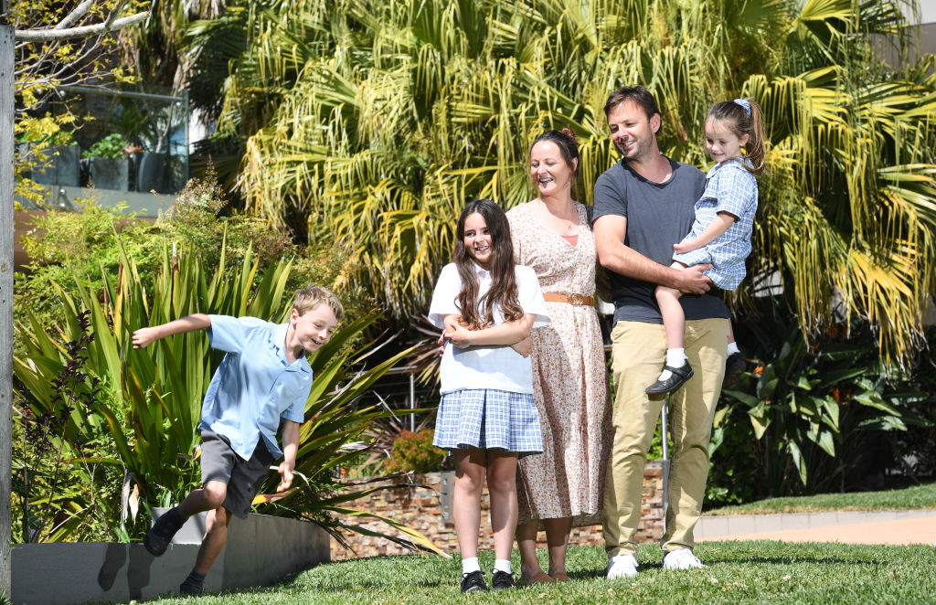
[[[673,269],[624,245],[624,235],[627,233],[626,216],[599,216],[593,229],[598,261],[605,269],[666,288],[678,289],[684,294],[705,294],[711,288],[711,280],[702,274],[703,271],[711,269],[711,265],[699,264],[684,270]]]

